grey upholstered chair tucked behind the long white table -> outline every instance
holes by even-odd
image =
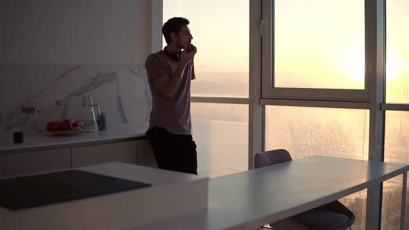
[[[284,163],[292,160],[293,159],[287,150],[257,152],[254,156],[254,168],[271,166],[277,163]],[[304,213],[294,215],[291,218],[305,227],[317,230],[351,229],[351,226],[354,224],[356,219],[355,214],[338,200],[324,204]],[[271,223],[270,225],[274,227],[274,223]]]

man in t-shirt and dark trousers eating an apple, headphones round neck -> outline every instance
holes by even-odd
[[[152,111],[146,136],[157,166],[166,170],[198,174],[195,141],[191,133],[191,80],[195,79],[193,57],[187,53],[193,39],[189,20],[173,17],[162,27],[167,45],[146,58],[152,94]],[[183,49],[183,51],[182,51]]]

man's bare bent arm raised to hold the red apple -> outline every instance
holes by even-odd
[[[184,70],[186,65],[193,60],[196,49],[190,53],[186,53],[186,47],[180,56],[180,62],[177,64],[176,70],[172,73],[171,78],[168,78],[166,74],[157,76],[153,80],[153,86],[157,89],[163,96],[169,99],[173,99],[176,94],[177,89],[179,88],[180,81],[183,78]]]

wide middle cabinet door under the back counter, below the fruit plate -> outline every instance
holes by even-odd
[[[72,148],[72,167],[119,161],[137,163],[137,142],[128,141]]]

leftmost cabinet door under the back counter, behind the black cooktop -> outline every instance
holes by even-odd
[[[71,168],[71,149],[0,154],[0,177]]]

